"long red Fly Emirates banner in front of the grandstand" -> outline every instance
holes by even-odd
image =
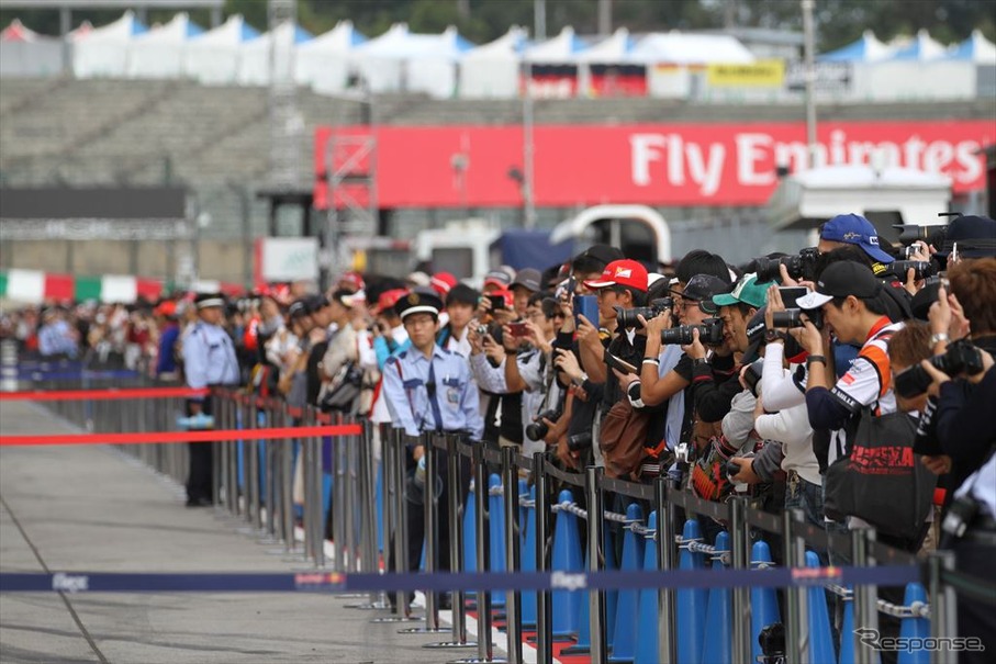
[[[317,130],[316,205],[328,206],[326,160],[334,167],[347,162],[336,146],[369,132],[343,127],[329,145],[332,127]],[[522,205],[519,183],[511,176],[523,172],[521,126],[381,126],[372,135],[382,209]],[[535,202],[763,205],[777,184],[777,166],[804,170],[805,136],[802,122],[537,126]],[[822,123],[816,157],[819,165],[875,159],[944,173],[958,193],[985,187],[978,150],[994,139],[996,126],[987,121]],[[359,171],[369,164],[366,157],[355,161]],[[345,193],[366,201],[362,188]]]

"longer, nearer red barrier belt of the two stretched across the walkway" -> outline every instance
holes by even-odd
[[[144,444],[156,442],[215,442],[228,440],[266,440],[270,438],[311,438],[317,436],[358,436],[360,425],[325,427],[280,427],[265,429],[226,429],[215,431],[153,431],[150,434],[48,434],[38,436],[0,436],[0,447],[43,444]]]

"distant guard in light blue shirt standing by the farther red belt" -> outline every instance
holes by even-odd
[[[183,372],[187,385],[202,389],[213,385],[238,383],[238,360],[235,345],[222,323],[225,319],[225,299],[221,294],[202,293],[194,304],[198,322],[183,337]],[[211,415],[211,397],[199,396],[187,401],[187,415]],[[190,474],[187,479],[187,507],[202,507],[213,503],[211,446],[191,442]]]

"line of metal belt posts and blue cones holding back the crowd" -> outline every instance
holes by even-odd
[[[46,373],[52,374],[52,380],[46,380]],[[116,399],[40,402],[93,434],[167,432],[176,430],[182,420],[180,397],[127,396],[127,387],[149,386],[150,381],[142,375],[104,376],[66,365],[37,367],[31,375],[35,389],[44,384],[46,392],[53,394],[69,390],[121,392],[122,397]],[[246,435],[245,440],[202,443],[211,444],[213,450],[213,495],[220,516],[233,519],[258,542],[278,545],[276,553],[315,571],[347,576],[381,574],[389,556],[405,565],[405,515],[419,506],[401,430],[329,416],[310,407],[290,408],[277,399],[259,398],[239,390],[213,390],[211,398],[215,403],[215,430]],[[248,438],[251,429],[299,427],[314,431],[314,427],[348,424],[360,425],[351,429],[358,432]],[[771,662],[871,664],[877,661],[877,653],[862,641],[853,626],[876,629],[880,611],[900,618],[903,635],[919,639],[919,643],[945,643],[956,635],[954,587],[956,584],[964,592],[971,579],[954,572],[953,558],[947,551],[932,553],[922,563],[879,543],[874,530],[828,533],[806,522],[798,510],[768,514],[750,507],[742,497],[727,503],[707,502],[681,491],[667,477],[646,485],[609,479],[595,466],[583,473],[566,472],[547,454],[525,458],[513,448],[471,444],[454,435],[424,434],[421,442],[426,450],[422,500],[428,503],[423,509],[424,573],[445,572],[452,575],[449,578],[454,582],[474,572],[507,572],[514,578],[527,576],[519,573],[535,573],[550,579],[546,587],[534,586],[538,589],[496,589],[480,578],[478,589],[455,584],[449,628],[440,623],[437,593],[425,593],[419,618],[409,605],[407,586],[400,583],[389,589],[371,586],[360,596],[366,601],[350,605],[357,609],[388,609],[394,604],[399,607],[396,615],[374,620],[418,622],[418,627],[401,631],[446,632],[449,640],[428,646],[477,651],[474,656],[456,662],[505,661],[494,653],[491,634],[495,624],[506,632],[505,651],[511,663],[523,662],[523,642],[528,631],[535,632],[541,663],[552,661],[555,641],[567,639],[573,642],[570,652],[586,652],[595,664],[751,662],[765,655]],[[120,448],[177,482],[182,483],[186,477],[186,444]],[[466,473],[468,464],[470,476]],[[300,466],[298,496],[295,466]],[[450,487],[446,496],[434,486],[432,479],[437,474],[446,476]],[[528,485],[521,485],[523,476],[529,477]],[[452,487],[465,487],[468,493]],[[625,514],[606,510],[607,493],[630,500]],[[377,509],[378,505],[382,510]],[[646,515],[645,506],[649,508]],[[700,518],[724,526],[714,544],[704,541]],[[329,521],[331,532],[326,532]],[[451,564],[449,570],[439,571],[435,561],[444,522],[450,533]],[[619,529],[622,560],[616,564],[614,549]],[[331,559],[325,555],[326,534],[333,541]],[[772,550],[759,534],[781,542],[780,565],[772,562]],[[883,578],[896,578],[895,574],[886,574],[892,571],[910,582],[922,579],[924,585],[907,585],[905,606],[887,605],[877,599],[874,583],[853,588],[835,585],[843,578],[842,572],[851,569],[820,566],[816,550],[843,551],[858,571],[883,565]],[[780,566],[792,573],[781,605],[768,584],[772,571]],[[730,574],[747,572],[757,581],[707,589],[692,585],[672,587],[654,576],[661,571],[708,569],[717,579],[723,578],[724,569]],[[598,588],[595,582],[600,574],[611,570],[644,573],[654,581],[647,587]],[[868,582],[874,577],[862,578]],[[429,586],[426,583],[425,587]],[[844,604],[839,652],[831,633],[826,588],[837,593]],[[393,594],[393,603],[389,593]],[[473,600],[466,595],[473,595]],[[468,635],[471,612],[478,626],[475,641]],[[761,629],[777,622],[780,617],[786,633],[783,660],[762,653],[758,644]],[[899,652],[904,664],[947,663],[954,657],[947,649],[928,653],[908,648]]]

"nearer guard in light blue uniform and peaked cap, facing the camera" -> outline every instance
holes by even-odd
[[[439,312],[443,301],[432,291],[414,291],[394,304],[411,339],[411,347],[391,357],[383,370],[383,396],[391,412],[394,426],[404,429],[410,437],[423,431],[465,434],[471,440],[480,440],[484,434],[484,420],[478,403],[478,389],[470,378],[467,360],[455,352],[436,345],[439,329]],[[422,444],[413,441],[410,446],[409,469],[414,469],[425,454]],[[439,463],[445,468],[445,461]],[[467,472],[463,476],[468,477]],[[425,492],[441,487],[446,495],[446,473],[437,473],[438,480],[426,479]],[[467,482],[461,491],[467,489]],[[426,493],[427,495],[427,493]],[[422,555],[425,532],[424,511],[410,495],[406,500],[409,527],[407,569],[417,570]],[[417,498],[416,498],[417,499]],[[422,500],[423,505],[427,504]],[[445,505],[440,497],[440,505]],[[438,570],[449,570],[449,528],[447,519],[439,520]],[[446,608],[446,599],[439,605]]]

